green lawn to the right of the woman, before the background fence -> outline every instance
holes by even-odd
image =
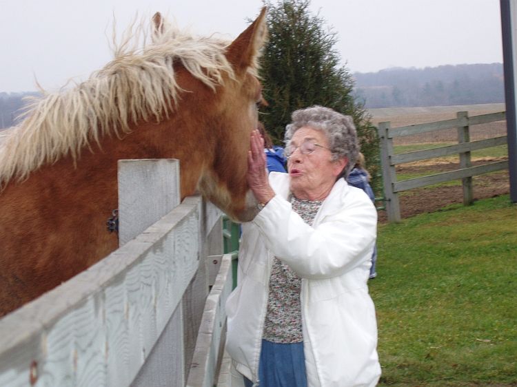
[[[517,205],[453,205],[378,229],[379,386],[517,386]]]

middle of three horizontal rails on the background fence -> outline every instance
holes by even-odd
[[[498,145],[505,145],[506,143],[507,136],[500,136],[487,138],[486,140],[471,141],[469,143],[458,145],[447,145],[446,147],[436,147],[422,151],[412,151],[405,154],[394,154],[389,158],[389,160],[391,165],[399,165],[404,163],[412,163],[413,161],[418,160],[426,160],[427,158],[443,157],[465,151],[475,151],[478,149],[496,147]]]

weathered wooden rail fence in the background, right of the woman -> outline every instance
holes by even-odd
[[[489,172],[499,171],[508,168],[508,161],[498,161],[495,163],[487,163],[472,167],[470,160],[470,152],[477,149],[495,147],[507,143],[507,136],[499,136],[488,138],[486,140],[470,141],[469,128],[473,125],[480,125],[496,121],[503,121],[506,118],[505,112],[482,114],[480,116],[469,117],[467,112],[458,112],[457,118],[452,120],[437,121],[434,123],[423,123],[418,125],[409,125],[405,127],[392,128],[389,122],[378,124],[378,135],[381,139],[381,166],[383,171],[383,186],[385,209],[389,222],[401,221],[401,209],[398,200],[398,193],[425,187],[440,182],[450,180],[462,180],[463,184],[463,203],[469,205],[473,201],[472,193],[472,176],[487,174]],[[412,134],[421,134],[426,132],[434,132],[437,130],[457,128],[458,144],[446,147],[437,147],[434,149],[426,149],[422,151],[412,151],[405,154],[394,154],[393,139]],[[425,160],[427,158],[435,158],[447,156],[450,154],[460,155],[460,168],[455,171],[443,172],[421,178],[412,178],[397,181],[395,166],[412,161]]]

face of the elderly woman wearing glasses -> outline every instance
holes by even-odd
[[[321,145],[310,154],[302,154],[299,146],[305,141]],[[327,136],[321,130],[301,127],[294,132],[291,145],[296,148],[287,160],[291,191],[298,199],[323,200],[328,196],[347,164],[346,158],[332,161]]]

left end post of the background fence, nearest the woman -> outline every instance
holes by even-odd
[[[385,197],[385,207],[388,222],[401,221],[401,205],[398,201],[398,193],[394,191],[396,182],[395,166],[391,163],[393,155],[393,139],[389,137],[391,123],[378,124],[378,136],[381,140],[381,167],[383,171],[383,187]]]

